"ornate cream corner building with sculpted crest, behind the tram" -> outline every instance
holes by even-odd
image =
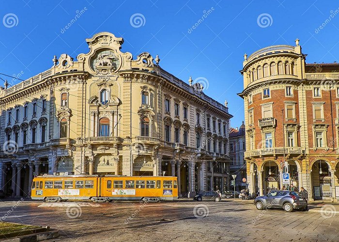
[[[101,32],[86,41],[90,51],[77,61],[54,57],[49,70],[1,90],[2,189],[29,194],[40,174],[172,175],[183,196],[214,182],[222,189],[227,102],[166,72],[158,57],[121,52],[123,38]]]

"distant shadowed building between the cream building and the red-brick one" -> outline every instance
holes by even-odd
[[[245,138],[245,124],[244,122],[238,128],[230,129],[230,171],[231,174],[237,175],[235,177],[235,190],[241,191],[247,188],[246,162],[244,159],[244,153],[246,151],[246,138]],[[234,186],[230,187],[230,190],[234,190]]]

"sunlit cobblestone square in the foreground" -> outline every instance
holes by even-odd
[[[12,212],[13,211],[13,212]],[[5,216],[5,214],[7,214]],[[339,205],[309,212],[255,209],[252,201],[1,202],[1,220],[50,226],[57,241],[338,241]]]

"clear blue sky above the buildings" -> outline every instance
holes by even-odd
[[[243,100],[236,93],[243,89],[239,70],[245,53],[294,45],[299,38],[308,63],[339,61],[337,1],[9,2],[2,2],[0,10],[0,73],[27,79],[50,68],[54,55],[76,59],[87,53],[85,38],[109,31],[124,38],[123,52],[134,58],[142,52],[158,54],[168,72],[187,82],[189,76],[198,78],[207,95],[221,103],[227,99],[233,127],[244,119]],[[81,10],[77,21],[62,30]],[[11,83],[11,77],[0,77]]]

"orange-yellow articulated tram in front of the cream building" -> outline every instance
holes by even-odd
[[[93,202],[178,199],[176,177],[43,175],[33,179],[31,190],[32,199],[47,202],[89,199]]]

